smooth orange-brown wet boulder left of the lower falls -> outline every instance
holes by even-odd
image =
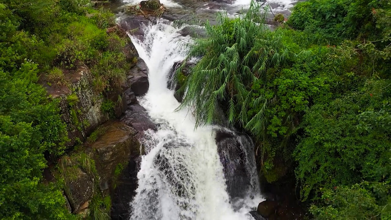
[[[112,185],[118,164],[126,164],[130,155],[140,154],[140,144],[135,139],[135,131],[120,121],[104,124],[106,133],[91,144],[99,174],[102,192]]]

